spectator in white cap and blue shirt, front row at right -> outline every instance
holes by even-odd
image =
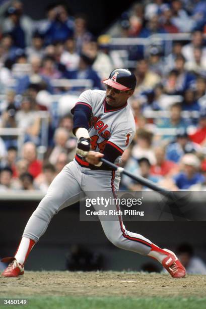
[[[200,161],[193,153],[186,153],[181,160],[182,171],[174,176],[174,182],[180,190],[187,190],[190,186],[204,183],[204,176],[199,173]]]

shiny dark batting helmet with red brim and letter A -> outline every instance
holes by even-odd
[[[109,78],[103,80],[102,83],[121,91],[134,90],[136,77],[128,69],[115,69],[110,73]]]

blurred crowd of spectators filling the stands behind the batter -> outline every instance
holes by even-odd
[[[74,158],[70,110],[85,81],[104,90],[118,67],[137,78],[136,135],[122,166],[170,190],[206,189],[205,1],[139,1],[98,37],[60,2],[37,21],[6,1],[0,21],[0,191],[47,191]],[[147,189],[126,176],[120,188]]]

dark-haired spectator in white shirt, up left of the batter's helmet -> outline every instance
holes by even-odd
[[[74,37],[68,37],[64,43],[64,50],[60,56],[60,63],[67,71],[78,69],[80,56],[76,53],[76,41]]]

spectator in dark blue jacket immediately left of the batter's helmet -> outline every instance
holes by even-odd
[[[88,80],[91,80],[92,82],[91,88],[102,89],[100,77],[98,76],[97,72],[92,69],[94,60],[95,59],[90,57],[89,55],[82,53],[80,55],[78,70],[67,71],[67,73],[65,74],[66,77],[68,79],[88,79]],[[82,89],[81,87],[80,89],[78,88],[78,90],[80,91],[81,89]]]

